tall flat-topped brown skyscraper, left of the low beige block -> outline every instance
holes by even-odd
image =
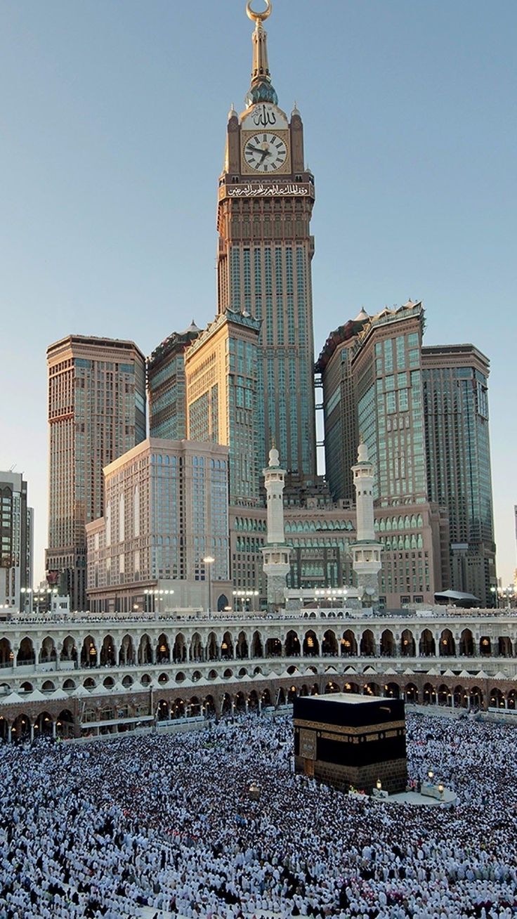
[[[86,605],[84,527],[104,512],[103,467],[146,435],[145,358],[128,341],[68,335],[47,349],[48,572]]]

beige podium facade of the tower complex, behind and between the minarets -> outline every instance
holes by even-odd
[[[433,603],[443,587],[441,559],[448,556],[447,518],[429,504],[376,507],[374,527],[381,552],[382,606]],[[230,507],[233,586],[259,589],[265,597],[262,547],[265,509]],[[347,501],[285,508],[286,542],[291,547],[289,589],[340,588],[354,584],[351,546],[356,539],[355,507]],[[251,600],[248,601],[251,608]]]

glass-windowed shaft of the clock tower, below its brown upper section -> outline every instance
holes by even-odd
[[[285,212],[286,202],[282,205]],[[264,202],[264,209],[272,208],[271,202]],[[261,216],[264,220],[264,213]],[[291,224],[296,215],[289,216]],[[268,226],[270,220],[275,226],[268,215]],[[286,226],[280,215],[277,225]],[[267,445],[275,442],[280,456],[286,457],[288,471],[300,476],[315,472],[311,255],[307,241],[229,245],[230,309],[250,312],[261,322],[258,464],[264,467]]]

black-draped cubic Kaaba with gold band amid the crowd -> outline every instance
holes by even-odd
[[[380,779],[389,794],[408,781],[406,716],[399,698],[330,693],[293,702],[295,772],[370,794]]]

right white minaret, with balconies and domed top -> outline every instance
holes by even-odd
[[[357,513],[357,539],[350,547],[357,579],[357,589],[363,602],[370,607],[378,600],[378,573],[382,567],[382,543],[376,539],[374,529],[374,464],[368,459],[368,448],[363,441],[357,450],[357,462],[352,467]]]

